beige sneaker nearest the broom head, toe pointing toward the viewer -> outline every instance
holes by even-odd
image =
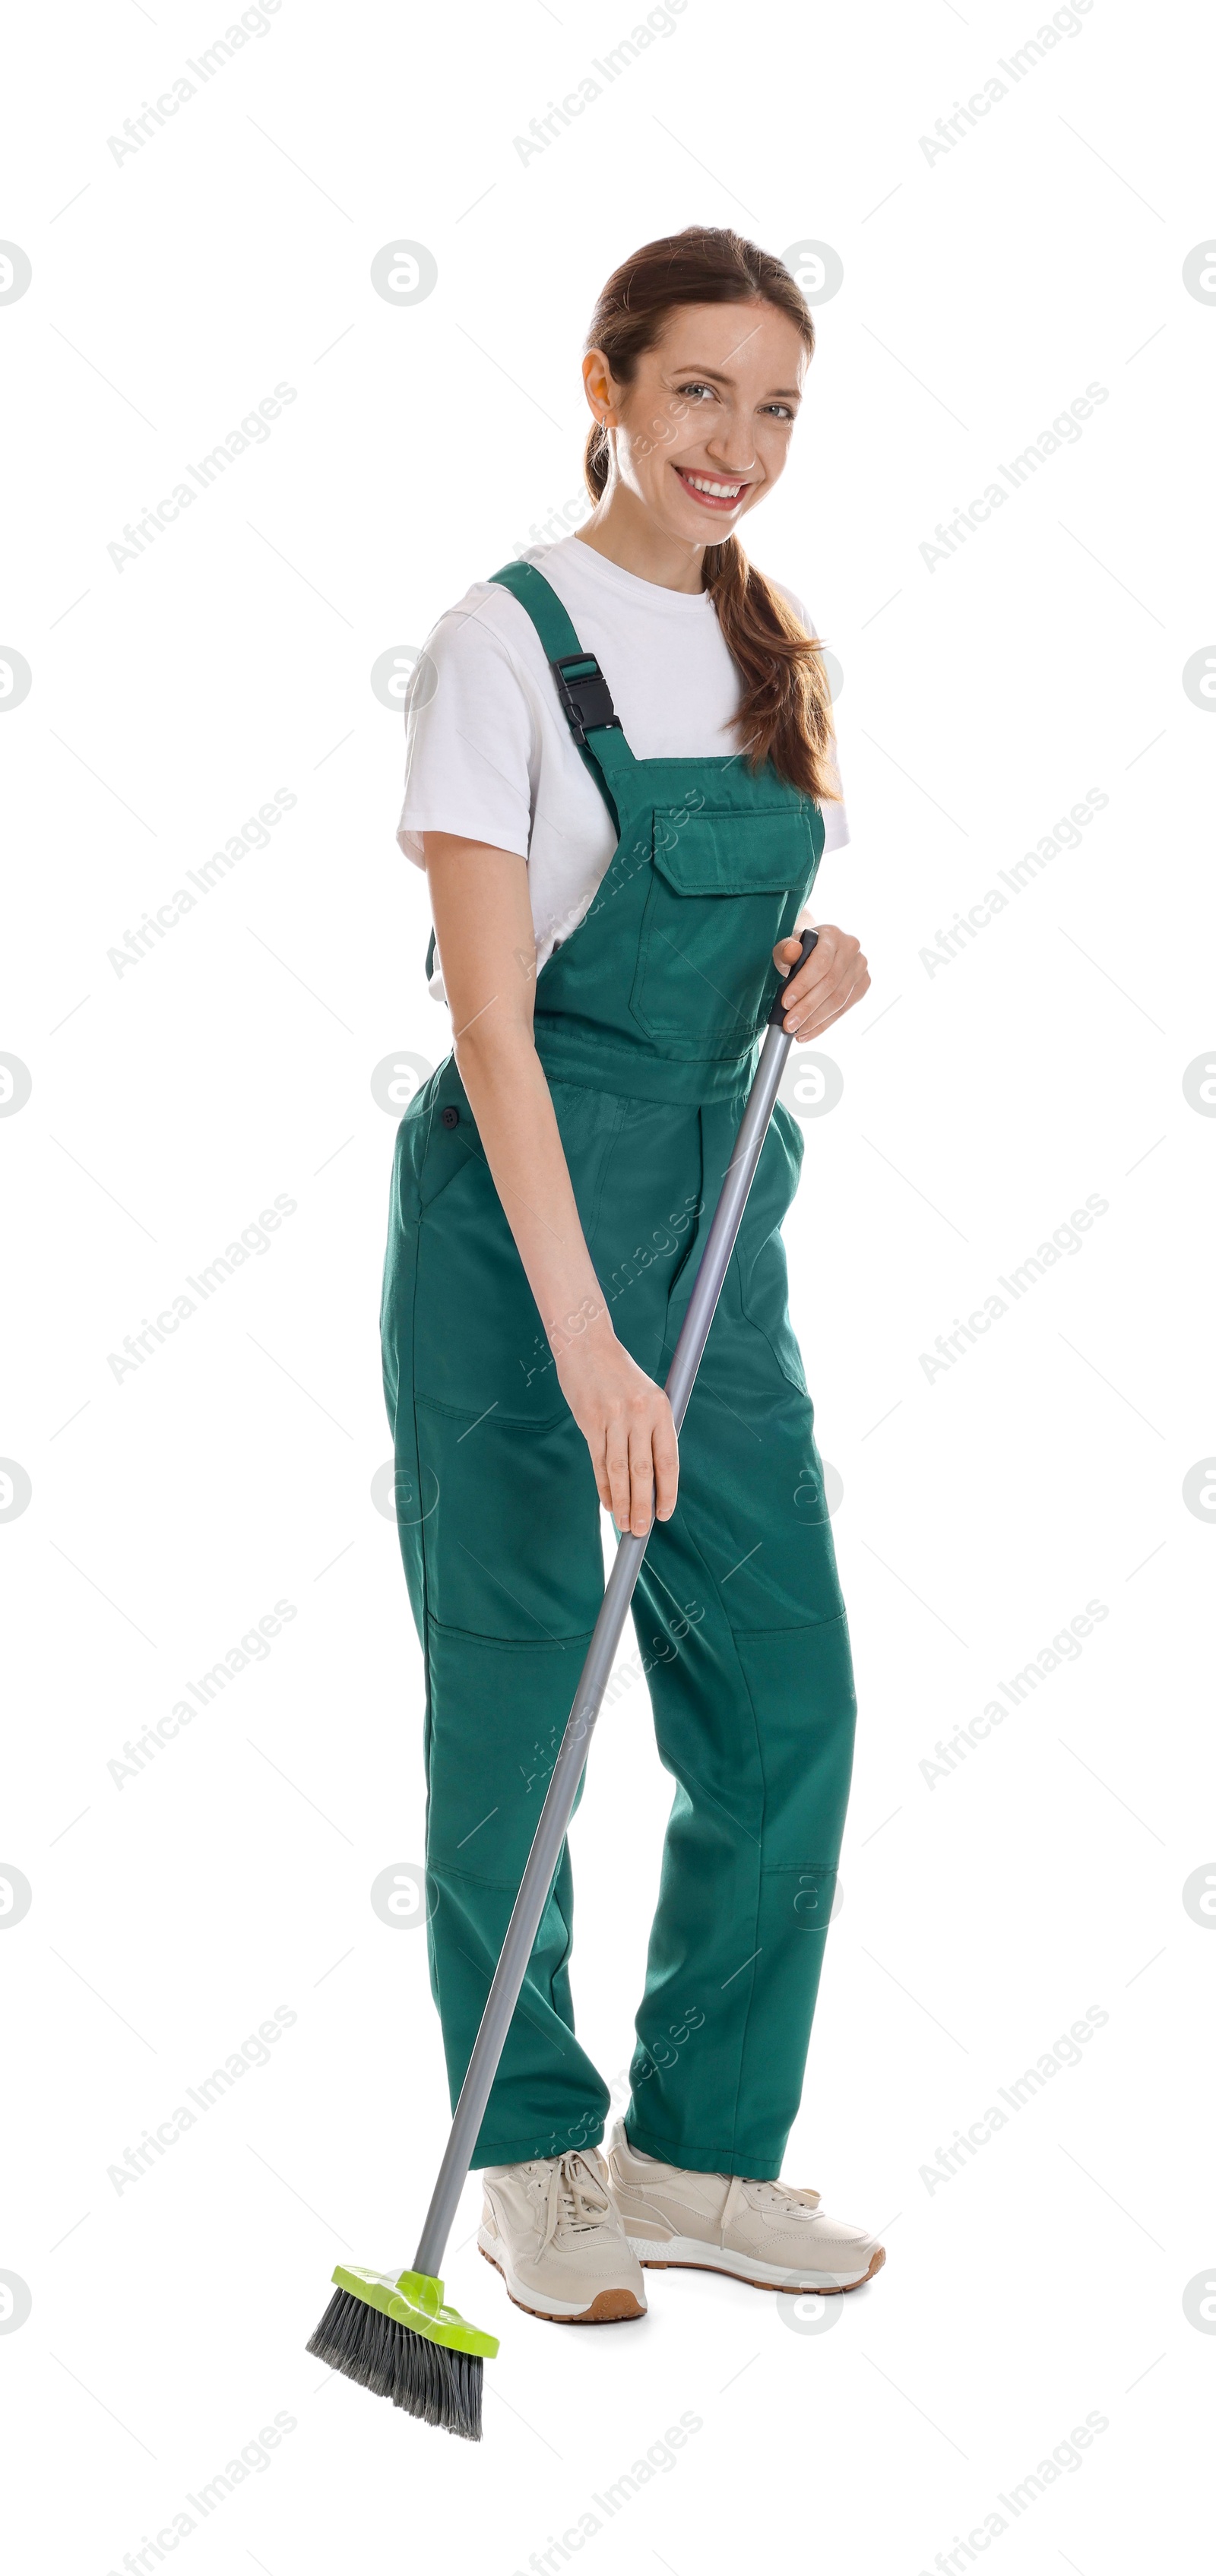
[[[489,2164],[477,2244],[508,2298],[554,2326],[608,2326],[647,2313],[647,2285],[595,2146],[531,2164]]]

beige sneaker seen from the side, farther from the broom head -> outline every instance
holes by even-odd
[[[819,2192],[739,2174],[690,2174],[629,2146],[616,2123],[608,2177],[626,2239],[647,2269],[729,2272],[752,2290],[858,2290],[886,2249],[827,2218]]]

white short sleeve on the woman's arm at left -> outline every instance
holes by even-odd
[[[410,675],[397,842],[420,868],[423,832],[528,858],[536,716],[492,616],[477,603],[448,608]]]

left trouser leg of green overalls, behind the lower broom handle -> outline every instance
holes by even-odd
[[[616,1103],[569,1095],[564,1144],[587,1224],[616,1128]],[[425,1656],[430,1984],[456,2105],[603,1600],[603,1540],[587,1443],[451,1061],[397,1139],[384,1386]],[[569,1947],[562,1852],[474,2164],[603,2136],[608,2084],[575,2038]]]

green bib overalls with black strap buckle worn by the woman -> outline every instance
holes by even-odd
[[[618,829],[536,979],[577,1211],[613,1329],[662,1383],[714,1216],[819,806],[742,757],[634,760],[608,685],[531,564],[528,611]],[[564,665],[564,667],[562,667]],[[778,1103],[680,1435],[634,1625],[675,1798],[626,2130],[775,2179],[799,2110],[853,1762],[853,1667],[781,1221],[804,1139]],[[456,2102],[603,1600],[582,1432],[448,1056],[397,1133],[384,1273],[397,1520],[425,1651],[428,1940]],[[611,1739],[611,1698],[603,1728]],[[631,1852],[618,1904],[649,1906]],[[479,2164],[603,2136],[575,2038],[569,1850],[502,2053]]]

